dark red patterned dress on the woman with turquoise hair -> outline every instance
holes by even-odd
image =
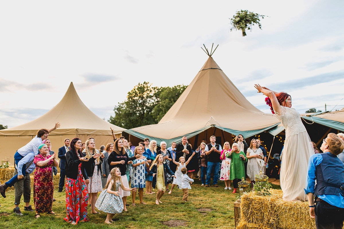
[[[50,154],[39,153],[35,156],[33,163],[45,161],[50,158]],[[53,206],[54,183],[52,177],[52,167],[54,160],[50,160],[42,167],[36,164],[36,171],[33,177],[33,201],[37,213],[45,213],[51,210]]]

